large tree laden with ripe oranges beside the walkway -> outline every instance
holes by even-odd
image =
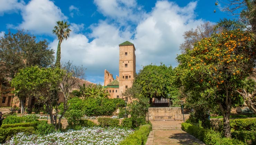
[[[185,90],[196,91],[209,103],[219,105],[225,136],[231,137],[231,107],[243,102],[236,90],[255,67],[255,42],[250,33],[239,29],[214,33],[177,60],[176,75]]]

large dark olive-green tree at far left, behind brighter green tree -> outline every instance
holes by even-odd
[[[54,51],[46,40],[37,42],[35,36],[18,30],[0,38],[0,58],[0,75],[12,79],[21,68],[52,65]]]

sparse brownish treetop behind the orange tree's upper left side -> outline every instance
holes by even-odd
[[[205,22],[195,29],[185,31],[183,34],[185,41],[180,45],[181,52],[185,53],[186,50],[192,50],[195,42],[198,42],[205,37],[210,37],[213,32],[215,32],[214,25],[210,22]]]

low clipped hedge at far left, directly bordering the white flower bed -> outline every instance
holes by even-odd
[[[0,142],[3,142],[7,137],[10,138],[17,133],[24,132],[26,134],[34,134],[34,127],[13,127],[13,128],[0,128]]]

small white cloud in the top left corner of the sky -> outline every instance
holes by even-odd
[[[25,2],[21,0],[0,0],[0,16],[3,16],[4,13],[14,13],[18,12],[25,5]]]

